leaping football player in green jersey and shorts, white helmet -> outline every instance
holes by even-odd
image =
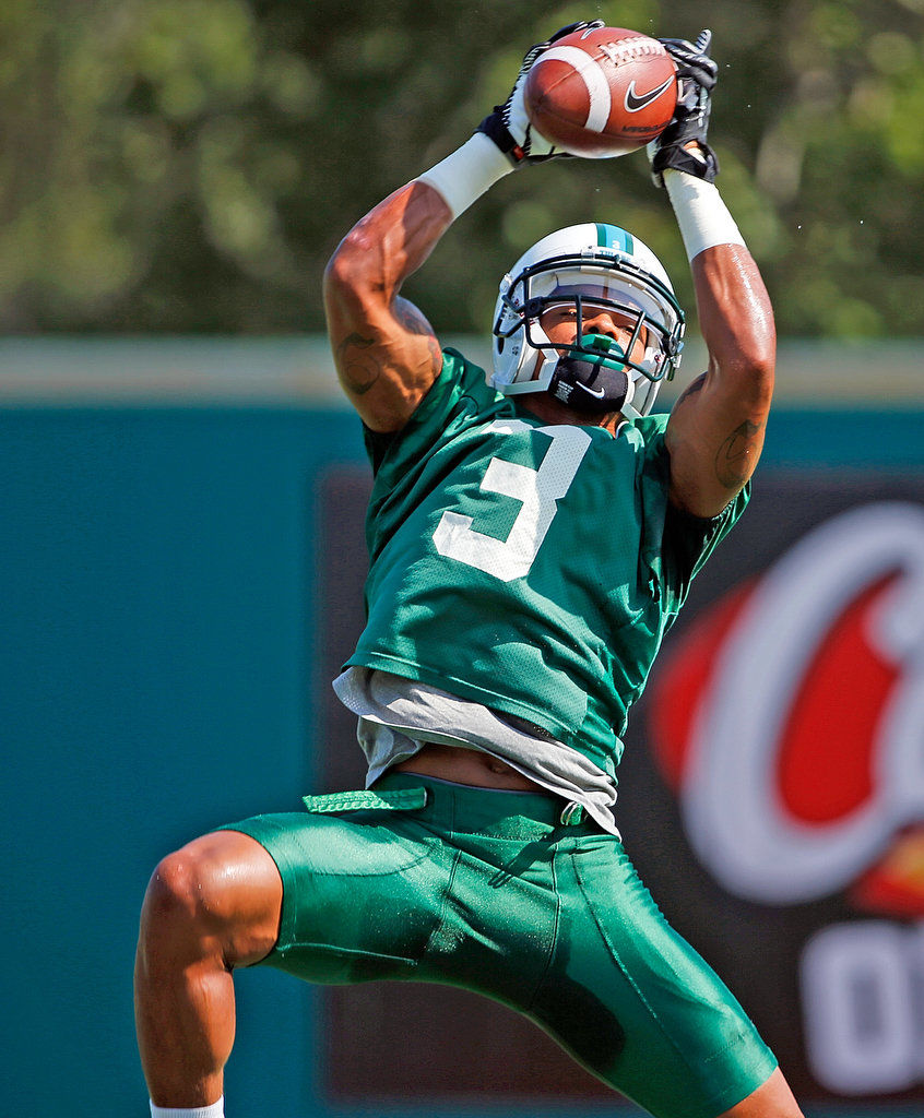
[[[136,967],[155,1118],[223,1115],[233,970],[260,961],[500,999],[660,1118],[800,1114],[639,881],[614,814],[629,710],[747,503],[773,387],[770,302],[714,181],[708,34],[663,40],[679,100],[650,151],[708,349],[670,415],[652,405],[683,312],[621,225],[551,233],[515,264],[490,379],[400,294],[497,180],[557,154],[522,84],[551,41],[596,26],[532,48],[505,105],[330,262],[331,344],[375,475],[368,620],[334,684],[367,787],[232,824],[158,866]]]

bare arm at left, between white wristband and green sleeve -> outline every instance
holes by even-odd
[[[403,427],[440,373],[440,343],[399,292],[452,217],[439,191],[409,182],[353,226],[324,272],[337,375],[373,430]]]

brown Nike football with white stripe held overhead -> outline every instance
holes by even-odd
[[[532,64],[524,103],[532,126],[556,148],[585,159],[625,155],[670,124],[677,67],[640,31],[573,31]]]

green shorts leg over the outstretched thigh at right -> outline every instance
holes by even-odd
[[[612,836],[558,872],[563,941],[534,1007],[597,1076],[658,1116],[715,1118],[776,1061],[725,984],[667,922]]]

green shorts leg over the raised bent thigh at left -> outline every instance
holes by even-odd
[[[233,827],[283,883],[265,961],[315,983],[413,979],[440,923],[452,859],[400,812],[263,815]]]

